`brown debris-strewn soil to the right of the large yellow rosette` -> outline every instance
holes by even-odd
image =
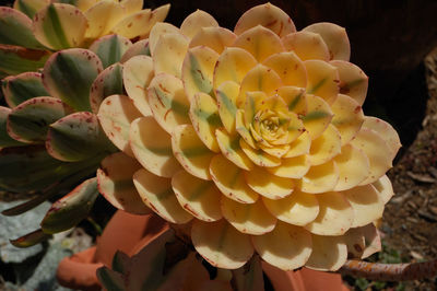
[[[424,63],[429,96],[425,117],[414,141],[402,149],[388,173],[395,196],[387,205],[381,228],[387,245],[399,251],[408,261],[437,258],[437,48]],[[410,97],[421,98],[414,94]],[[411,116],[402,118],[408,123]],[[404,286],[406,290],[436,290],[437,280]]]

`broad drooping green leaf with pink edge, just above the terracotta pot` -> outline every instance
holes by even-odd
[[[97,178],[90,178],[52,203],[40,225],[45,233],[58,233],[85,219],[98,196]]]

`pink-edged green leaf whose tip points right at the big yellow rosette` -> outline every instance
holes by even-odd
[[[105,151],[115,151],[97,116],[88,112],[71,114],[50,125],[46,148],[51,156],[66,162],[83,161]]]

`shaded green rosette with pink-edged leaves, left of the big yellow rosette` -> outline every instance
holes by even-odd
[[[42,229],[12,241],[14,245],[34,245],[87,217],[98,196],[96,170],[117,150],[92,108],[106,96],[123,93],[120,61],[149,54],[147,44],[108,35],[96,39],[91,50],[52,54],[42,72],[3,79],[9,107],[0,106],[0,188],[33,198],[2,213],[21,214],[60,197]]]

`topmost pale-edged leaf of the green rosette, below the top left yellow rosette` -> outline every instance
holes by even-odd
[[[103,67],[107,68],[121,60],[121,56],[132,46],[132,43],[121,35],[107,35],[95,40],[90,49],[102,60]]]

